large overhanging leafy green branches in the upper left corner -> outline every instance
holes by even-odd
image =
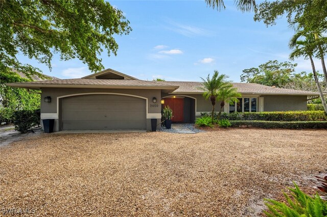
[[[12,68],[27,76],[40,72],[20,63],[18,53],[50,69],[53,53],[60,53],[61,60],[78,58],[100,71],[103,48],[116,55],[114,35],[131,31],[123,12],[104,0],[0,0],[0,11],[0,71],[6,73]]]

